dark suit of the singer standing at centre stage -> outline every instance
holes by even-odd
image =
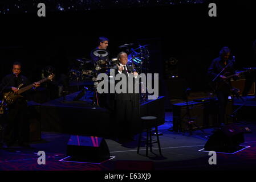
[[[128,73],[133,73],[133,68],[126,65]],[[118,67],[115,66],[115,76],[120,74]],[[123,70],[121,74],[125,75],[127,81],[127,93],[115,93],[115,122],[116,137],[121,139],[131,139],[139,129],[140,122],[140,94],[134,93],[134,83],[139,78],[133,78],[133,93],[128,93],[128,75]],[[132,75],[129,75],[132,76]],[[119,81],[116,81],[116,83]]]

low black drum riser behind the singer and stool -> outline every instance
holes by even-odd
[[[114,115],[107,109],[74,107],[66,105],[41,105],[42,131],[52,131],[74,135],[113,137],[115,134]],[[65,106],[66,105],[66,106]],[[164,124],[164,97],[149,101],[140,107],[141,116],[154,115],[159,118],[158,125]],[[132,133],[140,132],[140,122],[133,127]]]

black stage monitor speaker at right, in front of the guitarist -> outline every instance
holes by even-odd
[[[239,144],[245,141],[243,131],[234,123],[216,131],[205,144],[205,150],[218,152],[233,152]]]

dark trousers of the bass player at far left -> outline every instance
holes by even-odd
[[[29,122],[25,100],[18,100],[13,105],[10,105],[7,113],[3,142],[13,144],[17,139],[19,143],[27,142],[29,139]]]

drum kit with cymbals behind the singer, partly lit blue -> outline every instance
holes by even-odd
[[[119,48],[125,48],[125,52],[128,54],[128,63],[136,69],[138,73],[147,73],[147,64],[149,60],[149,51],[147,47],[149,44],[137,48],[132,48],[134,44],[123,44]],[[83,81],[88,78],[96,77],[98,73],[107,73],[107,71],[113,68],[119,63],[117,57],[108,59],[108,51],[105,49],[95,49],[92,51],[94,56],[98,57],[97,61],[92,61],[86,58],[75,59],[78,67],[71,67],[69,70],[70,81]]]

